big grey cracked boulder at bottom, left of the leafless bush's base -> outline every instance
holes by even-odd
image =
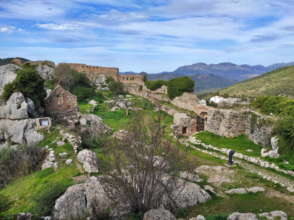
[[[84,183],[69,187],[55,202],[54,219],[83,218],[95,200],[105,208],[111,207],[112,201],[104,193],[101,178],[90,177]]]

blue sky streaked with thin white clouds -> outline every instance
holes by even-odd
[[[159,73],[294,61],[294,0],[0,0],[0,58]]]

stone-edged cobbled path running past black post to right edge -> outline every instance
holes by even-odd
[[[180,141],[182,141],[182,143],[185,142],[184,139],[180,139]],[[228,160],[228,157],[224,156],[221,153],[211,152],[209,150],[203,150],[203,149],[194,147],[193,145],[190,145],[190,146],[196,150],[203,152],[203,153],[207,153],[207,154],[211,155],[212,157],[217,157],[217,158],[220,158],[223,160]],[[288,179],[287,177],[285,177],[283,175],[280,175],[279,173],[265,170],[261,167],[258,167],[257,165],[250,164],[250,163],[243,161],[243,160],[233,160],[233,161],[235,163],[239,164],[240,166],[244,167],[245,170],[248,172],[256,173],[256,174],[262,176],[264,179],[267,179],[267,180],[272,181],[274,183],[280,183],[283,187],[287,187],[287,188],[290,187],[292,189],[294,188],[294,181]]]

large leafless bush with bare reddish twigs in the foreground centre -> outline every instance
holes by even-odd
[[[105,177],[103,190],[108,199],[122,204],[123,211],[126,207],[135,213],[160,207],[175,211],[187,202],[181,192],[188,180],[181,180],[178,174],[192,173],[198,163],[188,157],[190,147],[173,142],[163,131],[166,124],[162,111],[134,111],[124,138],[105,140],[105,160],[98,163]]]

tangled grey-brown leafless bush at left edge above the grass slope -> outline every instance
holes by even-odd
[[[0,150],[0,189],[13,180],[39,169],[44,159],[44,149],[20,145],[18,148]]]

